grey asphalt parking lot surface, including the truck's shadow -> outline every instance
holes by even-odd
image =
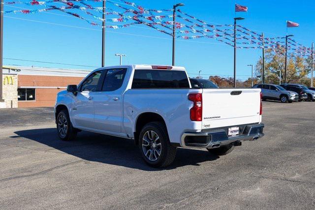
[[[148,167],[133,142],[58,139],[52,108],[0,110],[1,209],[314,209],[315,102],[263,102],[265,137],[232,153],[178,149]]]

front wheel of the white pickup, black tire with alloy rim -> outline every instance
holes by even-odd
[[[57,116],[57,132],[58,136],[63,141],[74,140],[78,130],[72,126],[67,110],[62,110]]]

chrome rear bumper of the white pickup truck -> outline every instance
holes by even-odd
[[[182,135],[183,148],[218,148],[233,142],[254,141],[264,136],[264,124],[244,125],[240,135],[229,137],[226,129],[216,129],[209,132],[185,132]]]

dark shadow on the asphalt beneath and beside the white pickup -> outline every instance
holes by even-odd
[[[206,150],[178,148],[173,164],[164,169],[155,169],[146,165],[138,146],[133,141],[92,132],[82,131],[71,142],[61,141],[55,128],[16,131],[17,137],[23,137],[51,147],[48,150],[60,150],[84,160],[111,165],[136,168],[144,171],[168,170],[185,165],[199,165],[201,162],[219,158]],[[13,136],[12,138],[16,138]]]

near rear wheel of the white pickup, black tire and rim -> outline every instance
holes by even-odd
[[[167,129],[161,122],[150,122],[142,128],[139,135],[139,149],[146,163],[155,168],[170,165],[175,159],[177,150],[170,144]]]

